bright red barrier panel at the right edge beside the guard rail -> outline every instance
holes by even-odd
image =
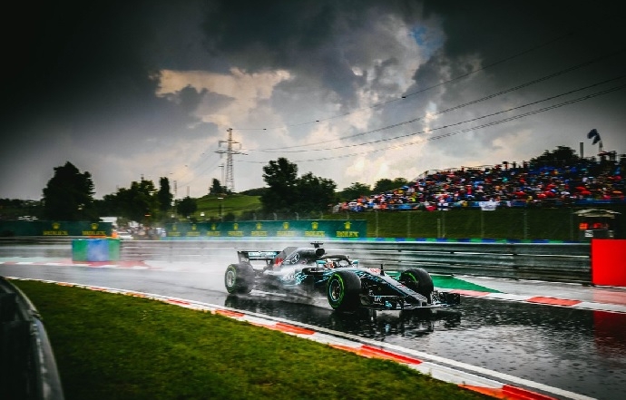
[[[592,239],[592,283],[626,287],[626,239]]]

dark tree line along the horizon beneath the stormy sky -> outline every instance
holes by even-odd
[[[531,164],[572,165],[581,161],[575,152],[564,146],[554,151],[544,151],[531,159]],[[505,161],[504,161],[505,162]],[[337,191],[334,180],[321,178],[311,172],[298,176],[298,165],[286,158],[269,161],[263,167],[265,188],[247,190],[242,194],[259,195],[265,213],[314,213],[328,210],[339,201],[353,200],[372,193],[396,190],[409,183],[404,178],[378,180],[373,187],[361,182],[353,182],[344,190]],[[103,200],[93,199],[94,185],[88,171],[79,171],[72,162],[54,168],[54,176],[43,190],[40,204],[23,203],[45,220],[99,220],[102,216],[117,216],[128,221],[152,225],[181,217],[188,217],[197,210],[196,199],[189,196],[174,200],[170,180],[159,179],[157,188],[152,180],[132,181],[129,188],[121,188],[103,196]],[[213,179],[210,196],[231,194]],[[15,207],[19,200],[0,199],[0,207]]]

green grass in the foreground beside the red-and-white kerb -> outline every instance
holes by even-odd
[[[67,400],[488,399],[396,362],[161,301],[12,283],[44,320]]]

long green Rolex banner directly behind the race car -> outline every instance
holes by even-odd
[[[337,238],[367,237],[367,220],[261,220],[173,223],[168,239]]]

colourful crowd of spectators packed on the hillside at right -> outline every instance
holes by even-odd
[[[455,208],[561,207],[626,203],[624,160],[582,160],[575,165],[501,165],[427,171],[407,185],[362,195],[334,210],[450,210]]]

